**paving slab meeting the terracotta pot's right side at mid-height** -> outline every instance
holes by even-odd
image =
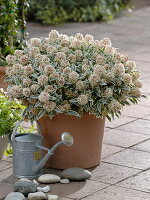
[[[104,143],[120,147],[130,147],[149,138],[150,135],[111,129],[105,133]]]

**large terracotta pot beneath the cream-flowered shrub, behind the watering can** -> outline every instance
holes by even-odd
[[[48,160],[47,166],[56,169],[69,167],[90,168],[100,164],[105,119],[84,113],[81,119],[60,114],[50,119],[45,116],[39,120],[42,125],[44,145],[48,148],[56,144],[63,132],[70,132],[74,144],[61,145]]]

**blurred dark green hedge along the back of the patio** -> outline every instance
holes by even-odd
[[[109,20],[128,8],[129,0],[31,0],[29,18],[43,24]]]

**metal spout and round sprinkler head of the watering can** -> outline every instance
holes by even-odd
[[[67,146],[71,146],[73,144],[73,137],[70,133],[64,132],[61,136],[61,141],[59,141],[57,144],[55,144],[51,149],[48,149],[46,147],[43,147],[41,145],[36,145],[36,147],[48,151],[47,154],[42,158],[42,160],[38,163],[38,165],[35,167],[34,172],[39,172],[45,163],[48,161],[48,159],[54,154],[54,151],[57,147],[60,145],[65,144]]]

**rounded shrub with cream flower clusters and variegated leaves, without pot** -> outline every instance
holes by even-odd
[[[22,100],[23,117],[30,120],[84,112],[111,120],[142,96],[135,62],[112,47],[109,38],[52,30],[46,38],[32,38],[28,48],[6,61],[8,94]]]

